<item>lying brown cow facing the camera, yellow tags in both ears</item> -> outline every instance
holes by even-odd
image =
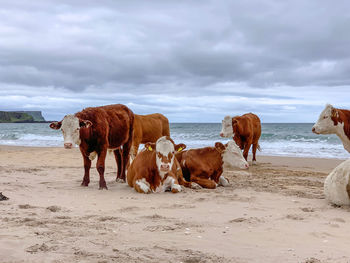
[[[146,143],[128,169],[128,185],[145,194],[167,190],[177,193],[182,190],[180,185],[196,188],[195,184],[184,180],[175,158],[175,152],[185,148],[185,144],[174,144],[168,136],[159,138],[156,143]]]

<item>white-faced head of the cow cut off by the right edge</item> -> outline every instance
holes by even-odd
[[[332,105],[327,104],[321,112],[318,121],[312,127],[312,132],[316,134],[336,133],[339,113]]]

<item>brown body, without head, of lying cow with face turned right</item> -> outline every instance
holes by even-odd
[[[177,153],[184,178],[204,188],[216,188],[222,175],[223,161],[216,147],[191,149]]]

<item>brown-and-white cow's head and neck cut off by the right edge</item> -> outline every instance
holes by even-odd
[[[350,153],[350,111],[327,104],[312,127],[316,134],[336,134]]]

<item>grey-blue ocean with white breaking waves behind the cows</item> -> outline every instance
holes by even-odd
[[[336,135],[316,135],[312,123],[263,123],[259,141],[261,155],[316,158],[349,158]],[[227,142],[219,136],[221,123],[171,123],[171,137],[187,148],[213,146]],[[48,123],[0,123],[0,145],[61,147],[61,131]]]

